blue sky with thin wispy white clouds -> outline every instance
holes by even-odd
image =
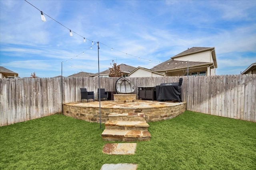
[[[27,1],[65,27],[24,0],[0,0],[0,66],[20,77],[59,76],[62,61],[63,76],[98,72],[91,41],[100,71],[112,60],[150,69],[191,47],[215,47],[218,75],[256,62],[256,0]]]

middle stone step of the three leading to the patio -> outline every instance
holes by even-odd
[[[105,123],[105,129],[108,130],[140,130],[147,131],[148,123],[146,121],[117,121],[108,120]]]

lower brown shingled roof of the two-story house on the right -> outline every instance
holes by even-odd
[[[151,68],[150,70],[156,72],[168,72],[168,71],[175,71],[175,70],[184,70],[189,68],[196,68],[201,66],[211,66],[212,63],[207,62],[195,62],[195,61],[177,61],[177,60],[167,60],[161,64],[158,64]]]

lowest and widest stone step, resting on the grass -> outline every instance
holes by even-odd
[[[108,130],[105,129],[102,134],[104,141],[149,141],[151,134],[148,131],[140,130]]]

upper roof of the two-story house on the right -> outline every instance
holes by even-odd
[[[176,59],[178,57],[183,57],[183,56],[191,55],[191,54],[195,54],[195,53],[201,53],[204,51],[212,51],[212,59],[214,61],[215,68],[217,68],[215,47],[192,47],[190,49],[187,49],[186,51],[183,51],[182,53],[179,53],[179,54],[171,57],[171,59]]]

